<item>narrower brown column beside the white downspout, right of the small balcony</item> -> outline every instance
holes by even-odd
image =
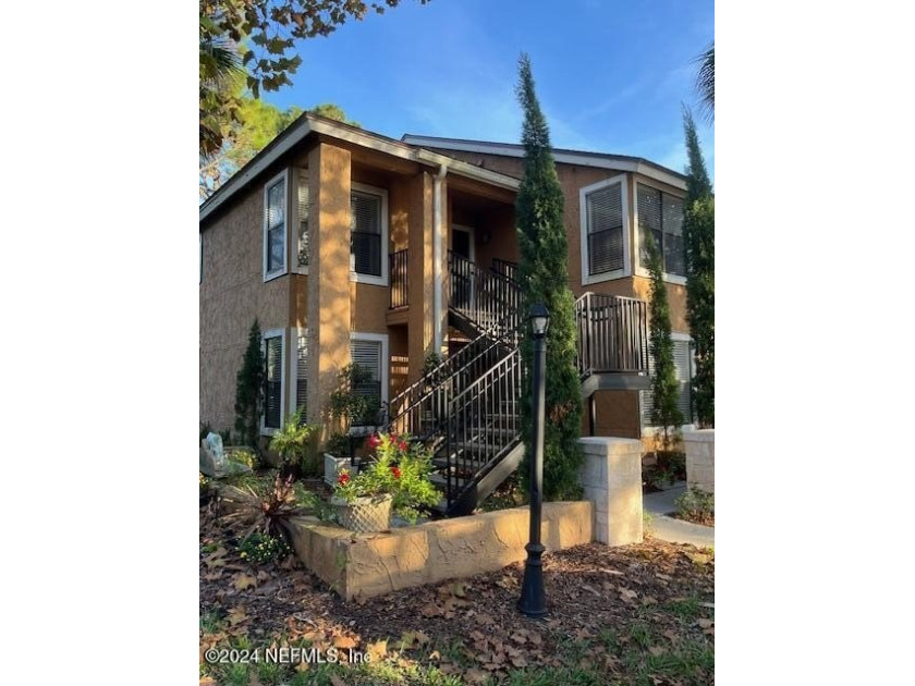
[[[432,177],[428,172],[419,172],[410,184],[408,383],[419,379],[426,355],[432,350],[435,289],[437,287],[432,278]]]

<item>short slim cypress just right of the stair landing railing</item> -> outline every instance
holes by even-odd
[[[660,427],[661,450],[669,452],[676,439],[676,430],[683,424],[683,413],[676,401],[680,396],[680,383],[676,381],[676,367],[673,363],[673,339],[670,331],[670,304],[663,281],[661,252],[651,232],[647,232],[648,271],[651,274],[651,301],[648,305],[648,352],[655,364],[651,377],[654,406],[651,424]]]

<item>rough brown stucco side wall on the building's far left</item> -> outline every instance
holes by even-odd
[[[263,212],[256,184],[203,232],[199,418],[217,430],[234,427],[235,375],[255,318],[261,331],[290,326],[290,278],[264,283]]]

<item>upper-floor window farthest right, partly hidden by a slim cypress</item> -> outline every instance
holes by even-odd
[[[648,268],[647,235],[655,237],[661,252],[664,273],[686,275],[686,252],[683,243],[683,198],[651,186],[636,186],[638,213],[638,264]]]

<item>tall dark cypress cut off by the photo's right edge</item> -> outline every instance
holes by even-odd
[[[686,134],[686,204],[683,240],[686,246],[686,320],[696,354],[693,399],[703,428],[715,427],[715,196],[706,171],[696,124],[683,109]]]

